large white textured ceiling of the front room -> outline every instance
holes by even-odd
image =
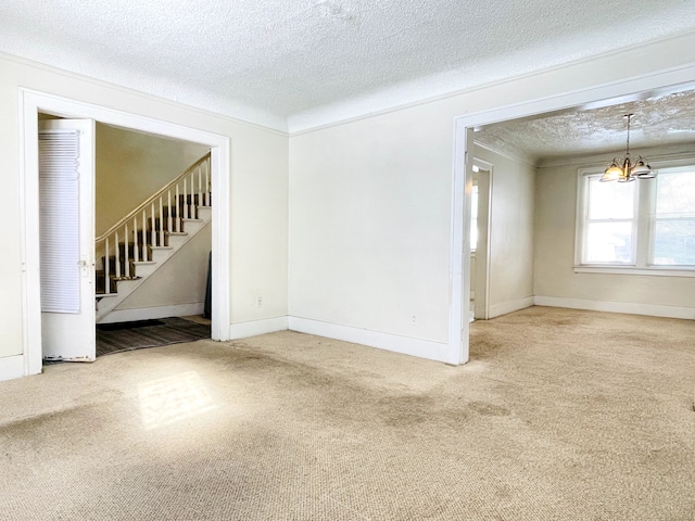
[[[275,127],[383,89],[397,105],[694,27],[692,0],[0,2],[0,51]]]

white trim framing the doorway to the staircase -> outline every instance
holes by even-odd
[[[24,374],[41,372],[41,298],[38,207],[38,113],[131,128],[193,141],[211,148],[212,207],[212,331],[213,340],[229,340],[230,323],[230,139],[174,123],[152,119],[29,89],[20,89],[20,190],[23,290]],[[220,202],[223,204],[220,204]]]

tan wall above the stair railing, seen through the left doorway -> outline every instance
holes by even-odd
[[[210,151],[210,147],[97,124],[97,237]]]

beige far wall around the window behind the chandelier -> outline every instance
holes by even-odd
[[[692,154],[692,145],[690,147]],[[640,150],[668,161],[664,150]],[[605,154],[603,165],[616,154]],[[617,153],[620,155],[620,152]],[[681,157],[682,154],[677,154]],[[607,160],[606,160],[607,158]],[[536,302],[546,305],[695,318],[695,277],[576,274],[577,173],[596,166],[596,157],[549,162],[536,183]],[[650,182],[650,181],[637,181]]]

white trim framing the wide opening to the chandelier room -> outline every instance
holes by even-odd
[[[454,122],[451,252],[450,252],[450,327],[446,361],[466,364],[469,359],[468,302],[470,295],[470,190],[472,187],[473,129],[482,125],[534,116],[546,112],[580,106],[609,106],[642,98],[641,93],[656,96],[678,86],[695,81],[695,65],[654,72],[648,75],[626,78],[622,81],[598,85],[593,88],[564,92],[526,103],[506,105],[462,115]]]

